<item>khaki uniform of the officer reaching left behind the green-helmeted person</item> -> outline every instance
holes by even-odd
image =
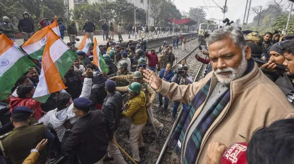
[[[120,91],[120,92],[125,92],[125,91],[128,91],[128,87],[129,86],[116,87],[116,90]],[[141,91],[143,91],[145,93],[147,103],[152,104],[155,101],[156,92],[151,88],[151,86],[149,84],[145,83],[143,80],[141,81]],[[148,119],[148,122],[150,124],[152,124],[152,122],[153,122],[155,128],[162,130],[164,125],[154,118],[152,106],[148,107],[147,110],[150,113],[150,115],[149,115],[150,119]]]

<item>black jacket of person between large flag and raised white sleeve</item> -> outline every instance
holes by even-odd
[[[82,92],[82,82],[79,74],[74,71],[72,74],[65,74],[64,78],[66,80],[65,86],[67,87],[65,91],[71,94],[73,100],[79,98]]]

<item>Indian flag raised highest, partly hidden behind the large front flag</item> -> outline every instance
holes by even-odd
[[[57,24],[57,20],[53,22],[53,24],[43,28],[42,30],[36,32],[28,41],[25,42],[24,45],[22,45],[22,49],[25,50],[27,54],[31,56],[33,59],[41,59],[44,52],[44,46],[46,44],[47,38],[47,31],[48,29],[52,29],[56,35],[59,37],[60,31],[59,26]]]

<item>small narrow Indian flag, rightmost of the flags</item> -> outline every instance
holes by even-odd
[[[96,37],[94,39],[94,48],[93,48],[93,64],[95,64],[101,73],[108,74],[108,67],[100,53],[100,49],[97,44]]]

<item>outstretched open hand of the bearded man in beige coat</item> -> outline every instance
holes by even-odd
[[[148,83],[154,90],[158,90],[162,86],[162,80],[150,69],[144,71],[144,81]]]

